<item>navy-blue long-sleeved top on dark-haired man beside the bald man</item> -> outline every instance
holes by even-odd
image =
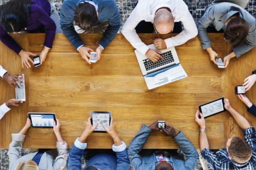
[[[79,3],[84,0],[64,0],[61,7],[61,29],[67,39],[72,43],[72,45],[77,49],[84,43],[81,41],[79,35],[75,31],[73,26],[73,18],[76,7]],[[108,28],[105,30],[102,39],[99,42],[103,48],[106,48],[115,37],[117,31],[119,30],[120,16],[119,11],[116,7],[114,0],[92,0],[96,5],[98,5],[98,25],[108,21]]]

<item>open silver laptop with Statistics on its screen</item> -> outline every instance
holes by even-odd
[[[148,47],[156,49],[154,44],[148,45]],[[148,90],[187,77],[174,47],[159,51],[163,53],[163,59],[157,62],[152,62],[138,50],[134,51]]]

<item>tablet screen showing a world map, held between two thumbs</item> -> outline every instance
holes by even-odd
[[[110,118],[109,113],[92,113],[93,126],[96,125],[96,123],[99,123],[95,131],[105,131],[102,125],[109,127]]]

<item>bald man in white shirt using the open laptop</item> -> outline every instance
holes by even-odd
[[[139,0],[124,24],[122,34],[134,48],[145,54],[152,62],[156,62],[158,59],[163,59],[160,55],[162,53],[148,48],[136,32],[153,33],[154,30],[157,34],[168,34],[174,31],[174,26],[177,24],[175,22],[180,21],[184,30],[166,40],[160,38],[153,40],[157,49],[182,45],[194,38],[198,34],[195,21],[183,0]]]

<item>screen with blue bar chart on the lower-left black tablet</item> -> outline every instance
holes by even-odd
[[[30,114],[33,127],[53,127],[53,114]]]

